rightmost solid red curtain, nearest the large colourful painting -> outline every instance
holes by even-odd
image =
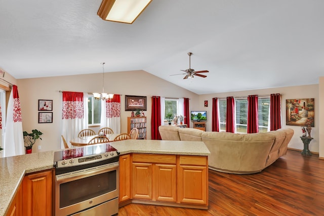
[[[281,128],[281,98],[280,94],[270,95],[270,131]]]

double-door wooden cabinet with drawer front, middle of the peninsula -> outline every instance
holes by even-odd
[[[133,154],[133,198],[176,202],[176,155]]]

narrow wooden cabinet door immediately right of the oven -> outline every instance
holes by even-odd
[[[131,155],[119,157],[119,202],[131,198]]]

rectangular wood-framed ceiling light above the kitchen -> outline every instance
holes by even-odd
[[[106,21],[132,24],[152,0],[103,0],[97,15]]]

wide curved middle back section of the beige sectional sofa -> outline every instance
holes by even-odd
[[[204,132],[201,136],[211,152],[208,157],[210,168],[235,174],[249,174],[264,169],[275,140],[270,133]]]

